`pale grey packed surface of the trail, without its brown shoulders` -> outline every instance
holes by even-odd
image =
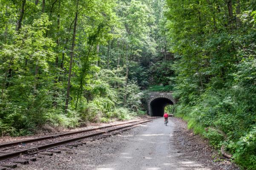
[[[211,170],[198,161],[182,158],[175,146],[173,133],[175,123],[169,119],[164,126],[162,118],[143,125],[137,135],[116,150],[111,157],[95,170]]]

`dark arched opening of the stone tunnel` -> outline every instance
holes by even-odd
[[[157,98],[150,103],[152,116],[164,116],[164,107],[173,105],[173,102],[167,98]]]

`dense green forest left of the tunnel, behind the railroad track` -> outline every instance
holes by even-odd
[[[145,114],[142,90],[173,73],[164,4],[1,0],[1,134]]]

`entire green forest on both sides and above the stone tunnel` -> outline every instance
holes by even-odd
[[[256,169],[255,0],[0,0],[0,133],[182,117]]]

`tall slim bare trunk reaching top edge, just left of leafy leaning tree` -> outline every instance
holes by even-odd
[[[74,49],[75,49],[75,34],[76,34],[76,27],[77,27],[77,21],[78,21],[78,2],[79,2],[79,0],[77,0],[77,5],[76,5],[72,46],[71,46],[71,50],[70,50],[71,52],[70,52],[70,61],[69,61],[69,77],[68,77],[68,86],[67,86],[67,94],[66,94],[65,112],[69,108],[70,80],[71,80],[71,74],[72,74],[72,62],[73,62],[73,55],[74,55]]]

